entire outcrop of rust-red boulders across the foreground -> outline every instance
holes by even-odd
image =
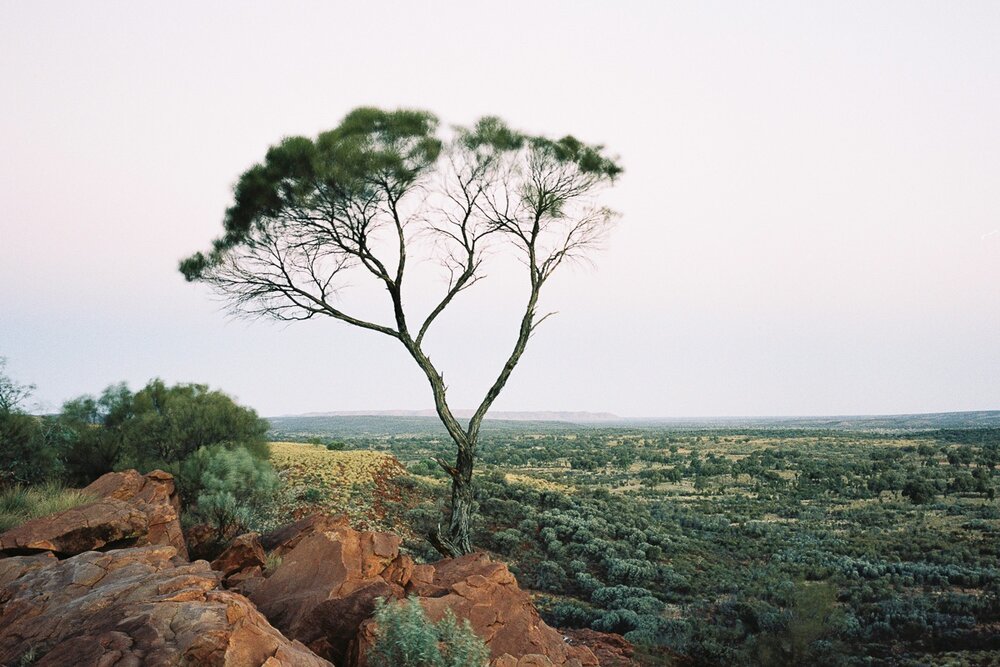
[[[396,535],[317,514],[189,563],[169,474],[85,491],[97,500],[0,535],[0,665],[366,667],[376,600],[408,595],[432,621],[467,619],[494,667],[599,664],[596,640],[568,643],[485,554],[415,564]]]

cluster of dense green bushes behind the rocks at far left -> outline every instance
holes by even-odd
[[[2,371],[0,360],[0,526],[79,504],[64,484],[127,468],[174,473],[186,522],[211,524],[219,540],[279,520],[268,424],[224,393],[161,380],[132,393],[118,384],[35,416],[22,408],[33,387]]]

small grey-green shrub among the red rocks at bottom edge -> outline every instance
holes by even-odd
[[[449,610],[432,623],[416,598],[375,607],[376,638],[368,651],[372,667],[477,667],[490,657],[486,644],[466,620]]]

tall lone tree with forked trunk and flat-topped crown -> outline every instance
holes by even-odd
[[[426,111],[360,108],[315,140],[290,137],[247,170],[207,253],[180,264],[243,315],[332,317],[398,340],[427,376],[438,416],[455,442],[449,527],[431,539],[448,555],[472,550],[472,469],[479,429],[507,383],[539,315],[542,287],[601,240],[615,213],[597,195],[622,168],[602,146],[571,136],[517,132],[495,117],[442,137]],[[448,275],[421,319],[404,309],[408,261],[432,248]],[[486,251],[514,253],[527,271],[527,302],[514,347],[467,424],[448,405],[442,373],[424,351],[431,325],[483,277]],[[342,310],[347,274],[381,284],[391,321]],[[390,318],[387,318],[390,319]]]

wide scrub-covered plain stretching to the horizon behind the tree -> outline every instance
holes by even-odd
[[[447,502],[434,462],[447,434],[303,423],[286,418],[282,437],[399,458],[409,475],[394,478],[387,518],[411,553],[436,558],[423,535]],[[536,591],[548,622],[620,632],[650,653],[700,665],[985,664],[1000,651],[998,454],[993,426],[487,422],[473,530]],[[927,495],[911,497],[915,484]]]

